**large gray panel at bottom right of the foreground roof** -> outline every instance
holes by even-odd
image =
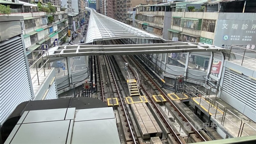
[[[72,134],[72,144],[82,143],[120,144],[116,120],[100,119],[75,122]]]

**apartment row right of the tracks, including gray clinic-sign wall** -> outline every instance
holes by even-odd
[[[192,5],[195,9],[189,12],[188,6]],[[165,40],[202,42],[230,49],[231,43],[248,44],[256,39],[255,6],[254,0],[140,5],[136,7],[135,27]]]

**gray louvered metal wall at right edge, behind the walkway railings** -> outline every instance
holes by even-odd
[[[220,98],[256,122],[256,81],[226,68]]]

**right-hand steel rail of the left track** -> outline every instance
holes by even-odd
[[[133,141],[134,144],[136,144],[135,137],[134,137],[134,135],[133,135],[133,133],[132,133],[132,127],[131,127],[131,125],[130,125],[130,122],[129,122],[127,113],[125,112],[124,103],[123,103],[122,97],[121,97],[121,95],[120,95],[120,92],[119,92],[119,90],[118,90],[118,87],[117,87],[117,84],[116,84],[115,75],[114,75],[112,66],[111,66],[111,64],[110,64],[110,62],[109,62],[109,60],[108,60],[108,56],[107,56],[107,62],[108,62],[108,65],[109,65],[109,69],[110,69],[111,75],[113,76],[113,80],[114,80],[114,83],[115,83],[115,86],[116,86],[116,90],[117,90],[118,97],[119,97],[119,99],[120,99],[122,108],[123,108],[123,110],[124,110],[124,111],[123,111],[123,112],[124,112],[124,116],[125,116],[125,119],[126,119],[126,121],[127,121],[127,123],[128,123],[129,131],[130,131],[131,136],[132,136],[132,141]]]

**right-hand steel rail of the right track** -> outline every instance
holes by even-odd
[[[130,56],[131,57],[131,56]],[[188,122],[188,124],[191,126],[191,130],[194,131],[196,133],[197,136],[199,136],[199,138],[202,141],[206,141],[204,139],[204,137],[196,130],[196,128],[188,121],[188,119],[183,115],[182,112],[180,112],[180,110],[176,107],[176,105],[171,101],[171,99],[164,93],[163,90],[161,90],[157,84],[154,82],[154,80],[148,75],[148,73],[146,73],[146,71],[140,66],[140,64],[135,61],[135,59],[133,57],[131,57],[131,59],[138,65],[138,67],[140,67],[140,69],[146,74],[146,76],[148,77],[148,79],[150,80],[151,83],[153,83],[153,85],[155,85],[155,87],[157,88],[157,90],[166,98],[166,100],[172,105],[172,107],[178,112],[178,114],[182,117],[182,119],[184,119],[185,122]]]

